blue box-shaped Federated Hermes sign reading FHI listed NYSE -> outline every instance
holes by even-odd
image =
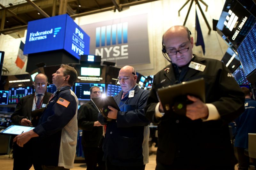
[[[64,49],[79,59],[90,37],[67,14],[28,22],[24,54]]]

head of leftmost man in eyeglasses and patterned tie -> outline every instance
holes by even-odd
[[[47,89],[48,79],[47,76],[43,73],[39,73],[36,75],[35,80],[33,82],[34,89],[38,94],[44,94]]]

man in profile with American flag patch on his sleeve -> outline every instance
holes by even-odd
[[[23,147],[31,138],[40,136],[43,169],[71,169],[74,165],[78,100],[70,88],[76,79],[74,67],[62,64],[52,74],[57,90],[50,97],[38,126],[13,140]]]

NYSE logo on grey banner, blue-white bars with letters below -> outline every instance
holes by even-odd
[[[128,58],[128,22],[96,28],[95,55],[106,58],[103,60]],[[108,46],[108,47],[107,47]],[[109,57],[113,58],[109,58]]]

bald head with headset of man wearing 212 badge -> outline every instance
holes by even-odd
[[[124,66],[121,68],[118,74],[118,81],[124,92],[131,90],[136,85],[137,81],[137,75],[134,67]]]

